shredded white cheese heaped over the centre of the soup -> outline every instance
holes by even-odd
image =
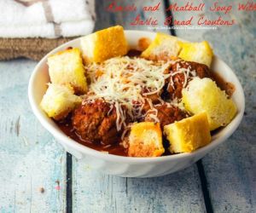
[[[85,66],[87,78],[90,80],[89,94],[86,99],[93,101],[99,98],[104,99],[113,105],[117,112],[116,126],[121,130],[126,127],[126,114],[133,120],[143,118],[143,106],[148,101],[150,110],[147,113],[155,122],[157,110],[147,95],[160,94],[166,78],[177,73],[189,75],[187,69],[177,69],[177,72],[166,74],[165,71],[177,60],[154,62],[143,58],[130,58],[129,56],[115,57],[97,64],[92,63]],[[172,84],[172,83],[171,83]],[[185,85],[187,78],[185,78]],[[173,84],[172,84],[173,85]],[[174,101],[175,102],[175,101]]]

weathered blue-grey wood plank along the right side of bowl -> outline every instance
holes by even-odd
[[[207,8],[212,5],[212,1],[204,2]],[[228,0],[222,2],[226,5],[230,3]],[[212,20],[217,19],[219,15],[209,11],[205,11],[205,14]],[[174,16],[184,18],[178,13]],[[189,16],[189,13],[186,13],[186,16]],[[241,81],[247,100],[246,116],[235,134],[203,158],[202,162],[214,211],[255,212],[256,43],[253,41],[256,35],[256,14],[233,10],[230,14],[223,15],[223,18],[228,16],[231,19],[236,18],[235,26],[221,26],[217,31],[177,31],[177,36],[188,40],[209,41],[215,54],[233,68]]]

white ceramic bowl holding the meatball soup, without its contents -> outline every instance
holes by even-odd
[[[140,37],[149,37],[153,39],[154,36],[154,32],[125,31],[125,37],[132,48],[137,48],[137,41]],[[84,162],[92,168],[96,168],[104,173],[115,176],[164,176],[177,170],[183,170],[189,165],[194,164],[197,160],[204,157],[207,153],[211,152],[213,148],[217,147],[220,143],[230,137],[241,123],[245,107],[241,83],[239,83],[235,73],[232,72],[230,67],[227,66],[223,60],[220,60],[215,56],[212,62],[212,70],[214,72],[218,72],[226,81],[234,83],[236,86],[236,91],[232,98],[236,102],[238,113],[236,114],[236,118],[234,118],[229,125],[212,136],[212,142],[209,145],[202,147],[193,153],[180,153],[158,158],[121,157],[108,153],[101,153],[91,149],[90,147],[85,147],[77,141],[73,141],[71,138],[67,137],[67,135],[58,128],[55,122],[48,118],[39,107],[39,103],[47,89],[46,83],[49,83],[48,66],[46,64],[48,56],[70,46],[79,47],[79,38],[68,43],[64,43],[40,60],[32,72],[32,76],[29,81],[28,97],[32,106],[32,111],[44,128],[49,130],[49,132],[55,137],[55,140],[60,142],[68,153],[72,153],[76,158],[84,160]]]

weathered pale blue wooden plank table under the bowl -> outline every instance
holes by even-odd
[[[137,14],[164,21],[170,15],[164,8],[171,2],[160,2],[154,13],[143,11],[158,2],[127,0],[121,4],[135,3],[137,11],[113,13],[106,12],[110,1],[96,0],[96,30],[117,24],[148,30],[130,23]],[[191,14],[173,16],[185,20]],[[203,14],[217,19],[220,13]],[[245,116],[234,135],[193,166],[169,176],[107,176],[73,158],[32,114],[27,83],[37,62],[0,62],[0,212],[256,212],[256,13],[231,11],[224,17],[235,17],[237,24],[218,30],[161,30],[209,41],[236,72],[246,95]]]

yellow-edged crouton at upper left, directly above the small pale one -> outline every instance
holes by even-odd
[[[84,94],[87,89],[81,52],[78,48],[66,49],[48,58],[49,77],[52,83],[70,84],[74,91]]]

